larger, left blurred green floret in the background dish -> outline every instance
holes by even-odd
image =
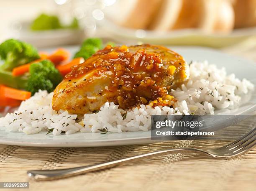
[[[33,31],[44,31],[59,28],[62,28],[59,18],[57,16],[46,15],[44,13],[39,15],[31,24],[31,30]]]

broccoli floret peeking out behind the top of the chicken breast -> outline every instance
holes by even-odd
[[[80,50],[75,53],[74,58],[83,57],[86,60],[101,48],[102,41],[100,38],[88,38],[82,43]]]

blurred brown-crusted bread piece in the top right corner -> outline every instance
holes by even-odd
[[[256,0],[236,0],[235,28],[256,26]]]

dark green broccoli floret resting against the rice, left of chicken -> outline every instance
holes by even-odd
[[[52,92],[62,80],[61,74],[49,60],[31,64],[29,73],[26,90],[31,92],[32,95],[38,92],[39,89]]]

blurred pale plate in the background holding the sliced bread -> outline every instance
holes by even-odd
[[[173,31],[149,31],[124,28],[116,25],[108,19],[98,21],[103,32],[99,35],[114,37],[114,41],[120,43],[149,43],[165,44],[170,46],[210,46],[221,48],[233,46],[245,41],[256,40],[256,27],[235,29],[230,33],[206,33],[197,28],[184,28]],[[249,43],[249,42],[248,42]]]

